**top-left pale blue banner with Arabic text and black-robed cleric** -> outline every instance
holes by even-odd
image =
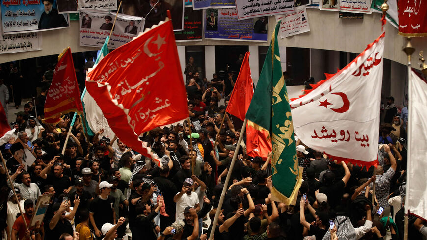
[[[69,26],[67,14],[59,14],[56,0],[2,0],[3,33],[46,31]]]

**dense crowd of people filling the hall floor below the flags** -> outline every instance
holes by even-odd
[[[117,137],[103,136],[103,129],[87,135],[80,118],[67,142],[71,115],[50,125],[41,124],[42,116],[35,114],[35,109],[43,112],[47,87],[36,106],[26,103],[0,138],[6,160],[5,166],[0,164],[4,237],[206,240],[219,211],[211,240],[404,239],[407,108],[398,109],[389,97],[378,113],[384,122],[375,171],[373,166],[338,163],[295,136],[304,181],[289,205],[271,197],[271,153],[267,159],[248,156],[242,133],[218,209],[241,134],[238,123],[225,113],[235,79],[231,73],[227,80],[217,74],[211,81],[200,80],[193,64],[190,60],[185,72],[190,122],[144,133],[140,138],[152,158]],[[219,105],[221,99],[224,105]],[[160,159],[161,167],[154,159]],[[43,195],[51,196],[44,219],[31,225],[33,215],[40,214],[37,201]],[[410,216],[408,237],[426,239],[426,222]]]

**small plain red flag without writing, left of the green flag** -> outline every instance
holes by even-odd
[[[239,76],[237,76],[227,109],[225,109],[226,112],[233,114],[242,121],[244,121],[247,109],[254,95],[254,85],[249,67],[249,54],[250,52],[246,52],[243,58]]]

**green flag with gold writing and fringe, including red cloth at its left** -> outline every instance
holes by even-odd
[[[280,65],[277,34],[280,21],[271,37],[270,47],[260,78],[246,113],[247,151],[265,156],[272,151],[271,171],[273,199],[295,204],[302,182],[302,168],[298,167],[294,126],[288,92]],[[272,150],[271,150],[272,149]]]

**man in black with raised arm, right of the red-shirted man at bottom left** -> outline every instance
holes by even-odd
[[[52,206],[53,217],[49,221],[49,228],[46,230],[46,239],[59,239],[63,233],[73,234],[73,227],[70,221],[65,219],[65,210],[70,207],[68,201],[62,203],[54,203]],[[77,204],[75,208],[78,208]]]

